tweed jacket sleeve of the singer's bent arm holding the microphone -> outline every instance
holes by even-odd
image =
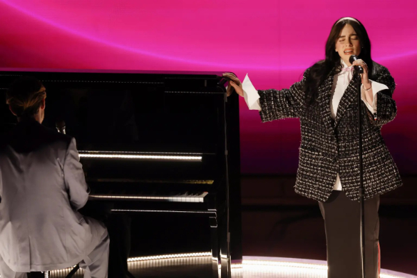
[[[375,77],[374,77],[375,79]],[[393,76],[389,73],[386,67],[382,67],[376,74],[377,83],[382,83],[388,88],[377,92],[377,109],[373,114],[367,110],[370,122],[375,126],[382,126],[394,120],[397,115],[397,105],[393,100],[393,92],[395,90],[395,82]],[[376,119],[376,120],[375,120]]]

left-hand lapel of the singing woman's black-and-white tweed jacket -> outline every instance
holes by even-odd
[[[332,97],[332,85],[334,76],[330,74],[327,79],[318,88],[318,104],[320,106],[320,115],[329,133],[334,134],[334,120],[332,119],[332,112],[330,111],[330,99]]]

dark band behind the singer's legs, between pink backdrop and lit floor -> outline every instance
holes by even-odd
[[[381,268],[417,275],[417,177],[382,195]],[[294,193],[295,177],[243,177],[243,255],[326,260],[318,204]]]

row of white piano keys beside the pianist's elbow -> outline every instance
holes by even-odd
[[[208,193],[200,193],[196,195],[172,195],[172,196],[143,196],[143,195],[90,195],[89,199],[120,199],[120,200],[141,200],[141,201],[154,201],[154,202],[193,202],[202,203],[204,197]]]

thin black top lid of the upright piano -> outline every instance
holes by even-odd
[[[155,74],[155,75],[167,75],[167,77],[186,77],[186,76],[195,76],[195,77],[204,77],[204,78],[218,78],[221,77],[224,72],[205,72],[205,71],[163,71],[163,70],[90,70],[90,69],[48,69],[48,68],[29,68],[29,67],[0,67],[0,76],[20,76],[25,73],[30,74],[33,72],[42,72],[42,73],[89,73],[89,74]],[[19,73],[19,74],[17,74]]]

